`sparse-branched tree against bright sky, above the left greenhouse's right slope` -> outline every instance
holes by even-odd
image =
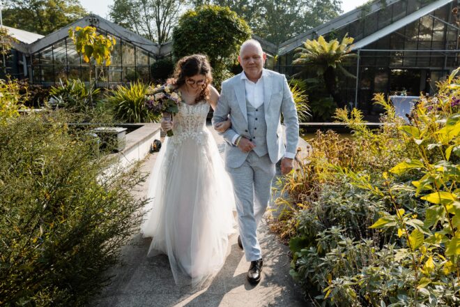
[[[171,38],[185,0],[115,0],[109,16],[122,27],[158,43]]]

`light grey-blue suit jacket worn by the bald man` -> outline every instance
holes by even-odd
[[[273,163],[277,163],[285,151],[296,153],[299,137],[297,110],[286,77],[272,70],[265,70],[264,74],[263,107],[267,123],[268,156]],[[286,148],[280,122],[281,114],[286,125]],[[226,121],[228,116],[231,119],[231,128],[221,134],[227,142],[225,163],[227,167],[235,168],[243,165],[248,153],[240,151],[231,140],[236,134],[250,138],[247,128],[245,81],[241,79],[241,74],[222,83],[213,124]]]

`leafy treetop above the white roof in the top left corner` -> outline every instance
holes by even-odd
[[[3,24],[46,35],[87,14],[75,0],[6,0]]]

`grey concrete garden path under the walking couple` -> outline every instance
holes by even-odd
[[[219,149],[224,148],[222,138],[213,133]],[[146,159],[142,172],[150,172],[155,155]],[[137,192],[147,193],[148,182]],[[93,301],[93,306],[307,306],[300,290],[289,276],[289,248],[279,242],[268,230],[266,219],[259,227],[259,240],[263,251],[263,276],[259,285],[246,280],[249,263],[236,243],[238,235],[230,237],[230,255],[220,274],[204,290],[194,292],[190,287],[175,285],[166,255],[146,257],[151,239],[140,234],[132,237],[121,249],[121,264],[109,271],[112,284]]]

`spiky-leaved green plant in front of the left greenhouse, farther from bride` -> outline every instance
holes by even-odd
[[[100,89],[86,87],[86,84],[79,79],[62,81],[58,87],[51,87],[49,95],[52,100],[49,104],[52,107],[65,107],[72,112],[86,112],[93,107],[93,98],[100,92]]]

